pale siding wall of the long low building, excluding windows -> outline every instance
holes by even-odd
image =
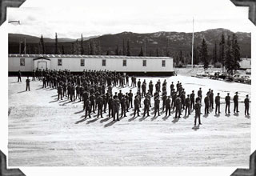
[[[9,58],[9,71],[32,71],[37,68],[39,60],[25,58],[25,66],[20,66],[20,58]],[[58,59],[62,59],[62,66],[58,66]],[[85,59],[85,66],[81,66],[81,59]],[[106,66],[102,66],[102,59],[106,59]],[[123,66],[123,58],[50,58],[47,68],[50,70],[70,70],[79,72],[82,70],[116,70],[118,72],[172,72],[173,59],[163,59],[166,66],[162,66],[162,59],[138,59],[127,58],[126,66]],[[142,66],[146,60],[146,66]]]

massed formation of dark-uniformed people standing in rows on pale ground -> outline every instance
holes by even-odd
[[[96,70],[84,70],[82,74],[74,75],[70,74],[70,70],[42,70],[33,71],[33,79],[38,78],[42,80],[42,88],[46,86],[52,87],[58,90],[58,100],[63,97],[70,99],[74,102],[78,99],[83,102],[83,110],[85,110],[85,118],[87,115],[90,118],[90,114],[98,110],[97,117],[102,118],[102,114],[106,113],[108,107],[108,117],[113,120],[119,121],[119,110],[121,106],[121,118],[126,117],[126,113],[131,108],[134,108],[134,117],[136,114],[140,116],[140,109],[142,104],[144,105],[145,115],[150,116],[151,98],[154,98],[154,116],[160,115],[160,100],[162,100],[162,112],[166,116],[170,116],[170,110],[174,110],[174,118],[181,118],[182,110],[185,110],[185,116],[190,115],[191,110],[195,110],[194,125],[201,123],[201,107],[202,107],[202,88],[199,88],[197,97],[194,90],[190,94],[186,94],[182,82],[174,82],[170,84],[170,95],[167,95],[167,82],[158,82],[153,84],[152,80],[146,86],[146,79],[141,79],[132,76],[131,78],[126,74],[120,74],[110,71],[96,71]],[[129,80],[131,79],[131,83]],[[119,92],[114,92],[113,87],[116,86]],[[133,94],[132,90],[123,93],[122,88],[125,86],[136,87],[137,93]],[[162,89],[161,89],[162,87]],[[155,88],[155,90],[154,90]],[[154,90],[154,92],[153,92]],[[143,102],[142,99],[144,98]],[[206,93],[206,97],[203,99],[205,104],[205,114],[210,114],[210,110],[214,109],[215,114],[220,114],[220,95],[219,93],[214,98],[214,90],[210,90]],[[238,113],[238,92],[235,93],[234,98],[234,113]],[[226,109],[225,113],[230,114],[230,94],[227,93],[225,97]],[[134,107],[133,107],[134,103]],[[245,114],[249,115],[250,100],[246,95]]]

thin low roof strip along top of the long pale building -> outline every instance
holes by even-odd
[[[145,57],[122,55],[75,55],[75,54],[9,54],[14,58],[138,58],[138,59],[173,59],[170,57]]]

